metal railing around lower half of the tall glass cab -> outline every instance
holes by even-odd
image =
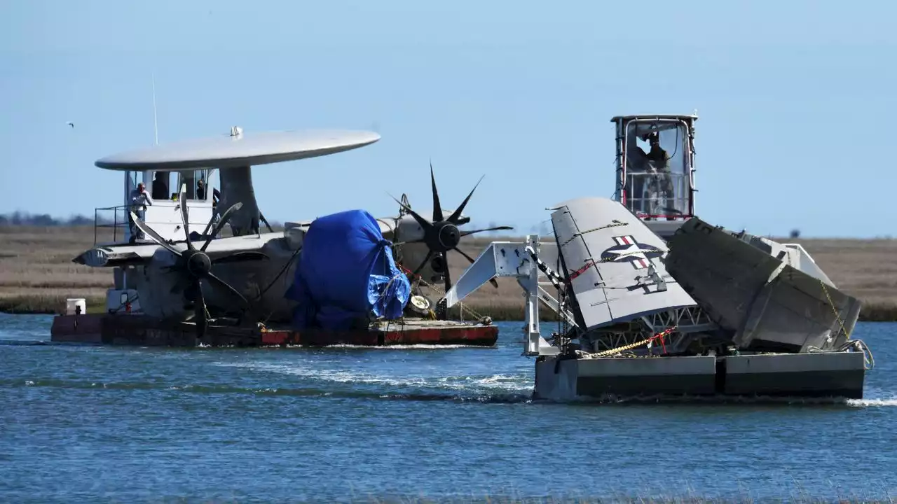
[[[623,201],[641,219],[690,217],[688,182],[684,173],[627,170]]]

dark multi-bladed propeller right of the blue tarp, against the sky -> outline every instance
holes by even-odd
[[[458,230],[457,227],[466,222],[466,220],[462,220],[461,213],[464,212],[464,208],[467,205],[467,202],[470,201],[470,197],[474,196],[474,191],[476,187],[479,187],[480,182],[483,181],[483,177],[481,177],[471,189],[470,193],[464,198],[464,201],[461,202],[460,206],[455,209],[448,218],[442,213],[442,207],[440,206],[440,193],[436,189],[436,177],[433,175],[433,163],[430,163],[430,180],[433,190],[433,218],[432,221],[427,221],[424,219],[419,213],[414,212],[411,209],[411,206],[407,204],[407,200],[403,198],[404,201],[399,201],[395,197],[392,197],[396,200],[396,203],[401,205],[401,207],[405,210],[405,212],[411,214],[414,217],[414,220],[417,221],[418,224],[423,228],[423,238],[415,239],[412,241],[405,241],[401,243],[397,243],[396,245],[404,245],[406,243],[426,243],[427,248],[430,250],[427,252],[427,256],[423,258],[420,265],[414,268],[413,275],[420,273],[423,269],[423,266],[427,264],[428,261],[432,259],[431,267],[433,271],[442,274],[443,279],[445,280],[445,290],[448,292],[451,289],[451,275],[448,273],[448,256],[447,253],[449,250],[454,250],[458,254],[465,256],[465,258],[474,263],[475,259],[471,256],[468,256],[464,251],[460,248],[457,248],[458,243],[461,238],[470,236],[476,233],[481,233],[484,231],[495,231],[495,230],[513,230],[514,228],[510,226],[498,226],[494,228],[486,228],[483,230],[469,230],[469,231],[461,231]],[[492,279],[492,286],[498,287],[499,283]]]

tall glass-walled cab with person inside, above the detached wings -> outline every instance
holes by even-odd
[[[663,238],[694,215],[697,116],[617,116],[614,199]]]

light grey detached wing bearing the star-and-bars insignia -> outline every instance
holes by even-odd
[[[622,204],[584,197],[553,210],[561,273],[570,279],[580,327],[697,305],[666,272],[664,240]]]

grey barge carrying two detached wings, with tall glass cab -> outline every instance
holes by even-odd
[[[862,398],[860,302],[797,244],[694,213],[696,116],[613,117],[616,191],[551,207],[553,241],[496,241],[447,294],[493,277],[526,295],[534,398]],[[640,144],[643,142],[643,144]],[[562,321],[543,337],[540,304]]]

